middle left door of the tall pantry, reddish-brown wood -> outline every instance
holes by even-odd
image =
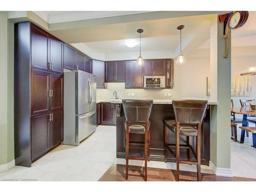
[[[31,115],[50,111],[50,74],[31,72]]]

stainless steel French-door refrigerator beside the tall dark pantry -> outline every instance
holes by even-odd
[[[96,76],[83,71],[64,73],[62,144],[79,143],[96,130]]]

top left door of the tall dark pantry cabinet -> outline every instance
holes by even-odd
[[[31,25],[31,67],[49,70],[49,34],[35,25]]]

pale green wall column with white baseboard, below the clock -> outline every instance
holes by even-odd
[[[230,34],[231,44],[231,34]],[[210,28],[210,99],[219,101],[211,107],[210,165],[216,175],[232,176],[230,169],[230,89],[231,45],[224,58],[226,40],[223,23],[213,15]]]

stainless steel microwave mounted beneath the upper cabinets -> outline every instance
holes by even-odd
[[[144,88],[165,88],[165,76],[144,76]]]

